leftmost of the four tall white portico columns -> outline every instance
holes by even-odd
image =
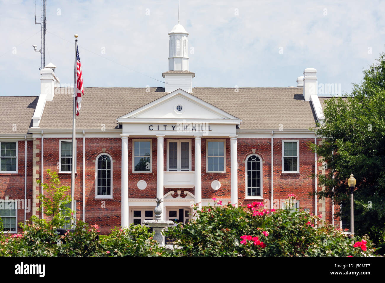
[[[129,226],[128,217],[128,136],[122,137],[122,227]]]

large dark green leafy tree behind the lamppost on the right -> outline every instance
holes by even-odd
[[[318,176],[325,191],[320,197],[334,197],[349,215],[347,179],[353,172],[354,230],[369,234],[378,244],[385,242],[385,54],[363,71],[363,80],[353,84],[346,98],[326,100],[325,122],[316,134],[325,141],[311,146],[327,163],[326,175]],[[344,212],[345,210],[345,212]]]

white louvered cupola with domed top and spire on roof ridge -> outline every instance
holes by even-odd
[[[189,71],[188,35],[189,33],[179,23],[178,5],[178,23],[169,32],[169,70],[162,73],[165,79],[165,92],[173,92],[177,89],[192,92],[192,78],[195,74]]]

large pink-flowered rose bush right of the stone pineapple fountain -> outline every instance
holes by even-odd
[[[294,194],[288,195],[292,202]],[[187,256],[372,256],[372,241],[355,237],[352,244],[341,229],[316,227],[322,215],[286,209],[264,209],[253,202],[235,208],[230,203],[200,210],[197,219],[166,234],[181,247],[174,255]]]

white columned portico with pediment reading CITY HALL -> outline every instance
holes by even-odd
[[[202,174],[212,174],[211,179],[230,176],[231,196],[223,199],[231,199],[233,204],[238,202],[236,127],[240,119],[178,89],[117,121],[122,125],[122,226],[130,223],[129,207],[155,206],[155,198],[129,198],[129,191],[139,188],[139,184],[137,188],[129,186],[131,167],[133,172],[138,169],[152,173],[156,168],[156,197],[164,199],[161,203],[163,218],[167,217],[166,207],[189,208],[192,203],[208,204],[209,199],[202,198]],[[133,139],[132,149],[128,137]],[[153,168],[154,139],[156,167]],[[226,156],[228,148],[229,156]],[[134,152],[132,164],[128,157],[130,150]],[[230,164],[226,164],[226,159],[230,159]],[[148,182],[145,178],[146,175],[141,180],[144,183]],[[218,183],[214,188],[213,184],[205,184],[210,187],[205,189],[219,189]],[[175,191],[182,193],[176,196]]]

